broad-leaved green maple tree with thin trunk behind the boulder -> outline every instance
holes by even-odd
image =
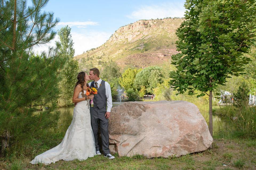
[[[170,85],[179,93],[209,96],[209,130],[212,127],[212,92],[230,75],[239,75],[249,59],[243,56],[255,37],[254,1],[187,0],[185,19],[177,29],[177,50]]]

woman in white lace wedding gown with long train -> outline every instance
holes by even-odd
[[[66,131],[62,142],[37,155],[30,163],[50,164],[59,160],[85,160],[88,157],[96,155],[93,131],[91,129],[90,105],[89,99],[93,99],[93,95],[85,96],[87,81],[90,80],[85,72],[78,73],[77,83],[73,95],[73,103],[77,103],[73,112],[73,119]]]

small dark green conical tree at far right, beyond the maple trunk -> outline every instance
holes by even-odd
[[[242,82],[241,86],[239,86],[237,92],[234,94],[235,97],[235,105],[238,107],[248,105],[249,102],[249,88],[245,82]]]

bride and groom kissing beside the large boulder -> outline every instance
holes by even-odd
[[[89,75],[84,71],[78,73],[74,89],[73,119],[62,142],[37,155],[30,163],[51,164],[59,160],[85,160],[88,157],[101,155],[98,144],[98,122],[101,128],[102,150],[105,157],[114,159],[109,150],[108,125],[112,108],[110,84],[99,78],[99,69],[90,69]],[[93,80],[89,84],[87,81]],[[97,95],[86,96],[87,88],[96,88]],[[93,100],[93,105],[90,105]]]

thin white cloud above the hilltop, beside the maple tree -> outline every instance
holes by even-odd
[[[157,19],[165,17],[183,17],[184,3],[162,3],[161,5],[142,6],[133,11],[128,18],[132,19]]]

